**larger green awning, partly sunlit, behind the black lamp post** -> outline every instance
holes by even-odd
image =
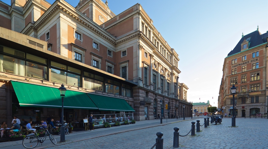
[[[61,108],[62,99],[58,88],[11,81],[20,106]],[[67,90],[64,108],[98,109],[87,93]]]

